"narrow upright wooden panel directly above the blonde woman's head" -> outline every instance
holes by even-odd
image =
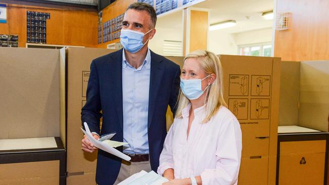
[[[208,12],[191,10],[190,52],[207,50]]]

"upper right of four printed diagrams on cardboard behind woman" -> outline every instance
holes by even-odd
[[[270,96],[271,76],[252,75],[252,96]]]

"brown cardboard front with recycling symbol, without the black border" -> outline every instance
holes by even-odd
[[[323,184],[325,140],[280,142],[279,184]]]

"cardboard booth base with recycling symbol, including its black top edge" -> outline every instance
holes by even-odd
[[[279,134],[278,184],[327,184],[328,133]]]

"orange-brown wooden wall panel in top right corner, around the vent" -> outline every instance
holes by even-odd
[[[276,12],[291,12],[289,30],[275,31],[274,56],[287,61],[329,59],[329,1],[277,0]]]

